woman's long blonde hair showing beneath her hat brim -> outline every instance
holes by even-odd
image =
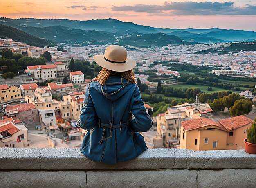
[[[125,72],[115,72],[106,68],[102,68],[98,76],[92,79],[92,81],[99,81],[101,85],[105,85],[105,82],[110,75],[119,75],[132,83],[136,83],[133,69]]]

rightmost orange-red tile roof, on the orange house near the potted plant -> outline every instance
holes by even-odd
[[[223,125],[228,131],[230,131],[232,129],[248,125],[249,123],[252,123],[253,120],[240,115],[233,118],[227,118],[225,120],[219,120],[218,122],[220,122],[220,124]]]

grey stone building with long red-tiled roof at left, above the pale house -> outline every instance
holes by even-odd
[[[16,118],[20,119],[23,123],[29,125],[40,122],[36,107],[32,103],[7,105],[5,114],[7,117],[16,116]]]

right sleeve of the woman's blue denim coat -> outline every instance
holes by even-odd
[[[137,85],[135,86],[132,100],[132,114],[134,118],[130,122],[130,126],[135,132],[146,132],[152,127],[153,121],[150,115],[146,112],[144,102],[141,99],[139,87]]]

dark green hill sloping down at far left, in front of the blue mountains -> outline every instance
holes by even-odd
[[[56,46],[56,43],[47,39],[40,39],[19,29],[0,24],[0,38],[13,39],[14,41],[24,42],[32,46],[43,48],[44,46]]]

